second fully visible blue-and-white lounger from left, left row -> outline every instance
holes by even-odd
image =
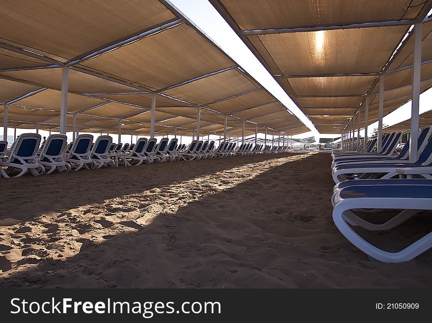
[[[50,135],[42,146],[37,161],[45,168],[50,167],[47,174],[57,170],[59,173],[69,172],[71,165],[66,162],[67,137],[61,134]]]

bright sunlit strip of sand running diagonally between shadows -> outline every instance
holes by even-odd
[[[7,277],[40,262],[58,262],[111,237],[137,232],[157,216],[170,214],[285,163],[315,153],[273,158],[191,178],[180,183],[90,203],[62,213],[45,212],[31,221],[8,219],[0,227],[0,275]],[[192,164],[190,164],[192,165]],[[189,165],[188,165],[189,166]],[[0,276],[0,277],[1,277]]]

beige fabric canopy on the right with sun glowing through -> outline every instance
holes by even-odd
[[[431,87],[432,21],[425,18],[429,0],[210,2],[321,133],[340,134],[367,95],[369,124],[376,120],[381,74],[384,114],[410,99],[411,26],[419,22],[421,91]],[[327,116],[339,119],[328,124]]]

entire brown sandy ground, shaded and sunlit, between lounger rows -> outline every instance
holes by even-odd
[[[1,179],[0,287],[430,288],[432,250],[371,262],[331,218],[328,152]],[[429,218],[428,218],[429,217]],[[430,232],[419,214],[391,232]]]

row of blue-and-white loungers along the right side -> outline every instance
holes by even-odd
[[[432,247],[432,232],[401,251],[388,252],[369,243],[352,229],[360,226],[369,231],[390,230],[419,212],[432,210],[431,132],[431,126],[420,131],[414,162],[408,159],[409,140],[399,153],[396,152],[401,133],[384,135],[379,151],[376,151],[377,140],[374,139],[366,143],[366,152],[362,152],[363,146],[358,147],[358,151],[354,147],[354,151],[332,152],[331,172],[336,183],[331,201],[333,221],[352,244],[373,259],[404,262]],[[359,216],[360,213],[373,215],[382,210],[397,210],[397,214],[381,224]]]

